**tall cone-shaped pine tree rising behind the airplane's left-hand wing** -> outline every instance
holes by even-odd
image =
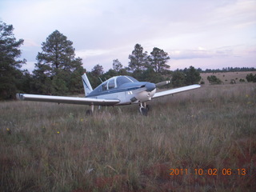
[[[73,42],[55,30],[42,42],[35,65],[34,86],[39,94],[80,92],[83,73],[82,59],[75,58]],[[79,78],[78,78],[79,77]]]

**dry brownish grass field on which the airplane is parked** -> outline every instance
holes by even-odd
[[[149,104],[0,102],[0,191],[255,191],[255,83]]]

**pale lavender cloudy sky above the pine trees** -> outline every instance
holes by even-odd
[[[128,66],[137,43],[167,52],[170,70],[256,67],[256,0],[0,0],[0,21],[24,39],[29,71],[54,30],[86,70]]]

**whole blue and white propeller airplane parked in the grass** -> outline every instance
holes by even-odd
[[[170,94],[178,94],[186,90],[194,90],[200,87],[200,85],[195,84],[156,92],[158,86],[163,86],[168,83],[170,83],[170,81],[159,82],[157,84],[151,82],[138,82],[138,80],[133,77],[121,75],[109,78],[93,90],[86,74],[83,74],[82,84],[85,90],[85,98],[39,94],[16,94],[16,98],[18,98],[18,100],[33,102],[89,105],[90,110],[87,110],[86,114],[93,114],[94,106],[124,106],[139,104],[140,113],[147,115],[149,107],[146,105],[146,102],[154,98],[160,98]]]

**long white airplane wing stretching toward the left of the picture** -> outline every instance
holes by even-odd
[[[57,102],[79,105],[95,105],[95,106],[113,106],[120,102],[118,99],[102,99],[102,98],[74,98],[63,96],[50,96],[40,94],[16,94],[16,98],[24,101],[33,102]]]

